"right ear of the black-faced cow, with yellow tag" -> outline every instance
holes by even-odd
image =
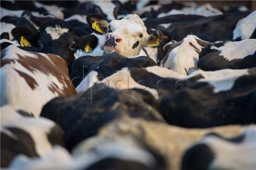
[[[85,35],[76,39],[76,47],[83,49],[86,53],[92,52],[97,45],[98,38],[95,35]]]

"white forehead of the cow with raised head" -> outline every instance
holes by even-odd
[[[113,31],[117,29],[127,29],[129,32],[143,33],[147,30],[145,26],[127,19],[114,20],[111,21],[109,25],[112,27]]]

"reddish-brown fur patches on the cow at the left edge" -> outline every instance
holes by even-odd
[[[28,69],[30,72],[34,73],[36,70],[44,73],[45,75],[52,74],[57,78],[57,80],[63,84],[62,91],[59,91],[60,89],[57,89],[57,85],[53,84],[51,87],[48,87],[53,93],[58,93],[60,96],[65,95],[73,95],[76,94],[76,89],[74,85],[70,81],[70,77],[68,74],[68,65],[66,61],[63,58],[60,58],[57,55],[54,54],[46,54],[50,60],[42,56],[39,53],[36,52],[30,52],[35,54],[38,58],[31,58],[26,56],[20,56],[17,54],[19,59],[5,59],[4,58],[4,52],[5,50],[1,51],[1,67],[5,64],[10,64],[11,62],[17,61],[22,66],[24,66],[26,69]],[[16,70],[16,69],[15,69]],[[19,70],[16,70],[20,76],[24,77],[28,85],[31,87],[31,89],[34,89],[36,85],[36,80],[26,73],[20,72]],[[39,84],[40,86],[40,84]]]

